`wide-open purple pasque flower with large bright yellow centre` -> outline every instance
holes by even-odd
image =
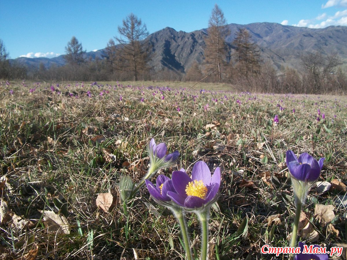
[[[168,191],[168,197],[186,209],[195,210],[211,206],[219,190],[220,168],[215,169],[212,177],[209,167],[203,161],[195,163],[192,177],[182,170],[172,173],[172,184],[176,192]]]

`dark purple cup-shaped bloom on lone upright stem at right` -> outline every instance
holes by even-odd
[[[312,182],[318,179],[324,159],[320,158],[317,162],[308,153],[302,153],[299,158],[291,150],[288,150],[286,153],[286,162],[291,176],[303,182]]]

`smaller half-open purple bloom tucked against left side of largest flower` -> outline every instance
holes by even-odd
[[[172,180],[165,176],[164,174],[160,174],[158,178],[156,178],[155,186],[149,181],[145,180],[147,189],[151,194],[152,198],[158,202],[168,202],[171,201],[171,198],[167,196],[168,191],[175,192],[175,188],[172,185]]]

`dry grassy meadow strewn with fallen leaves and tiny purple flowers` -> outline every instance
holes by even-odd
[[[0,258],[184,259],[175,217],[146,186],[125,206],[119,200],[122,175],[138,182],[146,174],[151,138],[180,153],[160,170],[167,176],[182,167],[190,173],[197,161],[221,168],[210,259],[287,259],[261,253],[264,244],[290,241],[287,150],[326,158],[303,208],[299,240],[345,246],[346,96],[193,85],[2,81]],[[111,208],[97,205],[100,193],[111,193]],[[198,259],[195,215],[187,214],[187,227]]]

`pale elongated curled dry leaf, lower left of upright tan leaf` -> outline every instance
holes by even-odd
[[[66,217],[59,216],[58,214],[54,213],[54,211],[50,210],[40,210],[40,212],[43,213],[43,221],[47,227],[48,233],[70,234],[70,226]]]

